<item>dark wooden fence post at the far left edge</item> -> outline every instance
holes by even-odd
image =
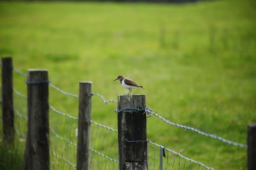
[[[14,141],[12,57],[2,58],[2,118],[4,143]]]

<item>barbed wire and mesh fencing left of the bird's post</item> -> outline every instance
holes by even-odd
[[[19,69],[13,71],[20,76],[27,78],[25,73]],[[72,94],[61,90],[56,85],[50,83],[52,89],[57,90],[61,94],[68,97],[79,97],[77,94]],[[17,121],[15,121],[15,129],[20,138],[26,137],[26,124],[28,117],[24,113],[27,104],[26,94],[22,94],[19,90],[13,88],[15,94],[15,113]],[[99,96],[104,103],[116,102],[106,100],[100,94]],[[19,104],[16,105],[16,104]],[[77,120],[74,115],[65,113],[49,105],[49,124],[50,124],[50,153],[51,153],[51,169],[76,169],[76,154],[77,154]],[[62,107],[61,108],[65,108]],[[20,111],[22,110],[22,111]],[[117,130],[106,125],[91,121],[91,136],[90,136],[90,169],[118,169],[118,146],[117,146]],[[24,140],[25,141],[25,140]]]

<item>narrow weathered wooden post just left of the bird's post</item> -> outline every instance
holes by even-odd
[[[79,115],[77,134],[77,170],[89,169],[92,82],[79,83]]]

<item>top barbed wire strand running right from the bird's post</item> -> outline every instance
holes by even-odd
[[[246,145],[244,144],[241,144],[241,143],[237,143],[237,142],[234,142],[234,141],[230,141],[228,139],[225,139],[225,138],[222,138],[220,136],[217,136],[215,134],[208,134],[206,132],[202,132],[198,129],[195,129],[193,127],[189,127],[189,126],[186,126],[186,125],[181,125],[181,124],[177,124],[177,123],[173,123],[173,122],[170,122],[170,120],[166,120],[165,118],[163,118],[162,116],[158,115],[156,112],[154,112],[153,110],[150,110],[149,108],[145,108],[145,111],[148,113],[148,114],[152,114],[158,118],[160,118],[161,120],[163,120],[164,122],[166,122],[167,124],[170,124],[170,125],[173,125],[173,126],[176,126],[176,127],[179,127],[179,128],[182,128],[182,129],[186,129],[186,130],[189,130],[189,131],[193,131],[193,132],[196,132],[198,134],[201,134],[203,136],[206,136],[206,137],[209,137],[209,138],[213,138],[213,139],[218,139],[224,143],[227,143],[229,145],[234,145],[234,146],[237,146],[237,147],[241,147],[241,148],[246,148]]]

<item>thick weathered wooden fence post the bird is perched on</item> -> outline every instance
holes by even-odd
[[[147,118],[144,95],[118,96],[118,152],[120,170],[147,170]],[[131,108],[141,108],[131,111]],[[137,141],[138,142],[131,142]]]

